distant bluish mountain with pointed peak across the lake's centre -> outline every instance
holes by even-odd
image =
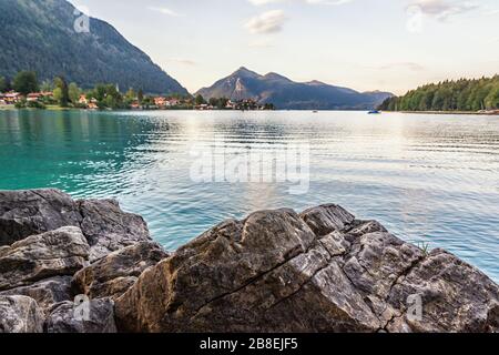
[[[261,75],[246,68],[238,69],[210,88],[201,89],[197,94],[205,99],[254,99],[283,110],[365,110],[393,97],[389,92],[363,93],[320,81],[294,82],[277,73]]]

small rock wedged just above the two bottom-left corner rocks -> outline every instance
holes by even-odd
[[[55,276],[29,286],[0,292],[0,296],[22,295],[31,297],[37,301],[41,310],[47,312],[54,304],[73,298],[71,278],[71,276]]]

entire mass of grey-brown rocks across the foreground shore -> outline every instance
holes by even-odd
[[[0,332],[42,329],[499,332],[499,287],[333,204],[228,220],[167,254],[115,201],[0,192]]]

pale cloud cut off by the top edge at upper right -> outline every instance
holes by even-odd
[[[437,20],[447,20],[450,17],[477,10],[479,6],[470,1],[416,0],[409,4],[409,8],[418,9],[422,14]]]

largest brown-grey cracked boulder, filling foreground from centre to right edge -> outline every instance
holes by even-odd
[[[144,271],[115,313],[125,332],[497,332],[498,304],[456,256],[325,205],[222,223]]]

